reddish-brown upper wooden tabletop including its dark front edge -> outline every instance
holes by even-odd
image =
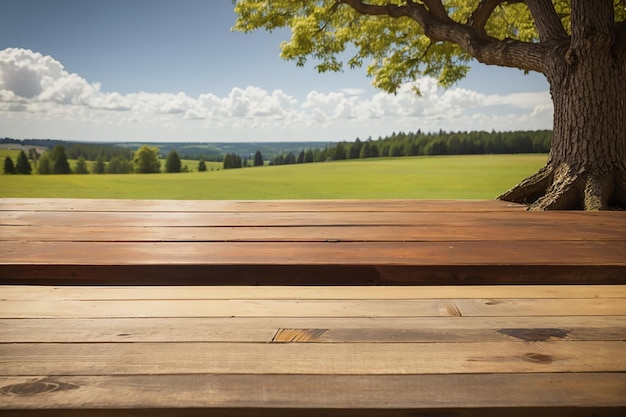
[[[502,201],[0,200],[0,283],[625,284],[626,212]]]

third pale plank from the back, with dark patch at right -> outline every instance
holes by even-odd
[[[316,343],[626,340],[624,316],[24,318],[0,328],[0,343],[267,343],[279,329],[326,330]]]

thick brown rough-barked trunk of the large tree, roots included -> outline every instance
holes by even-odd
[[[554,102],[550,156],[499,199],[531,210],[626,209],[626,59],[615,53],[613,2],[573,3],[571,42],[545,72]]]

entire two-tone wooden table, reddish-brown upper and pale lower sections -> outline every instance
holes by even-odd
[[[495,201],[1,200],[0,415],[623,416],[625,232]]]

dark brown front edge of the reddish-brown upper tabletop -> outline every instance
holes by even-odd
[[[564,285],[626,283],[620,265],[50,265],[0,264],[21,285]]]

